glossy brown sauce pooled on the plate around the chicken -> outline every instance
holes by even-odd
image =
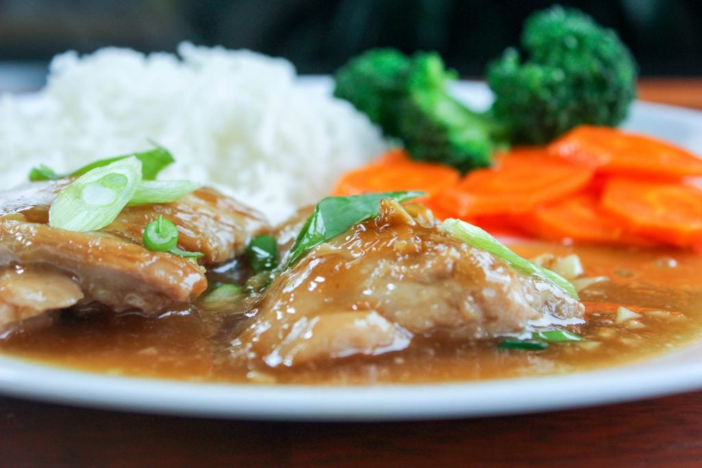
[[[663,354],[702,339],[702,255],[684,250],[512,246],[527,258],[576,253],[585,276],[607,276],[581,291],[588,323],[583,342],[543,351],[496,349],[496,342],[463,345],[415,340],[409,349],[376,358],[349,358],[325,366],[252,370],[228,359],[230,319],[201,319],[197,309],[164,314],[96,314],[55,326],[13,333],[0,352],[42,364],[115,375],[209,382],[352,384],[448,382],[548,375],[617,366]],[[615,323],[619,306],[640,318]],[[233,317],[233,318],[232,318]]]

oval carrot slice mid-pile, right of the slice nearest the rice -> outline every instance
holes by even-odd
[[[577,192],[591,179],[589,168],[554,158],[545,149],[515,149],[493,168],[468,173],[437,200],[464,217],[526,213]]]

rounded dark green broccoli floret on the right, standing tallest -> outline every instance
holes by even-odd
[[[637,66],[614,31],[555,6],[527,19],[522,48],[524,60],[510,48],[487,71],[493,115],[512,143],[545,143],[581,123],[623,121]]]

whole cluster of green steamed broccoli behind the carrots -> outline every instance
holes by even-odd
[[[613,31],[555,6],[527,19],[522,46],[527,60],[510,48],[489,65],[495,102],[483,114],[449,95],[455,74],[434,53],[366,52],[338,70],[334,94],[402,140],[413,159],[461,171],[489,166],[506,143],[541,144],[581,123],[623,121],[637,67]]]

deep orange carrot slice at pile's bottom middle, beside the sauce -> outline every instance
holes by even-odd
[[[536,208],[533,213],[515,218],[515,222],[527,232],[548,240],[653,244],[629,232],[618,218],[600,208],[599,197],[590,191]]]

